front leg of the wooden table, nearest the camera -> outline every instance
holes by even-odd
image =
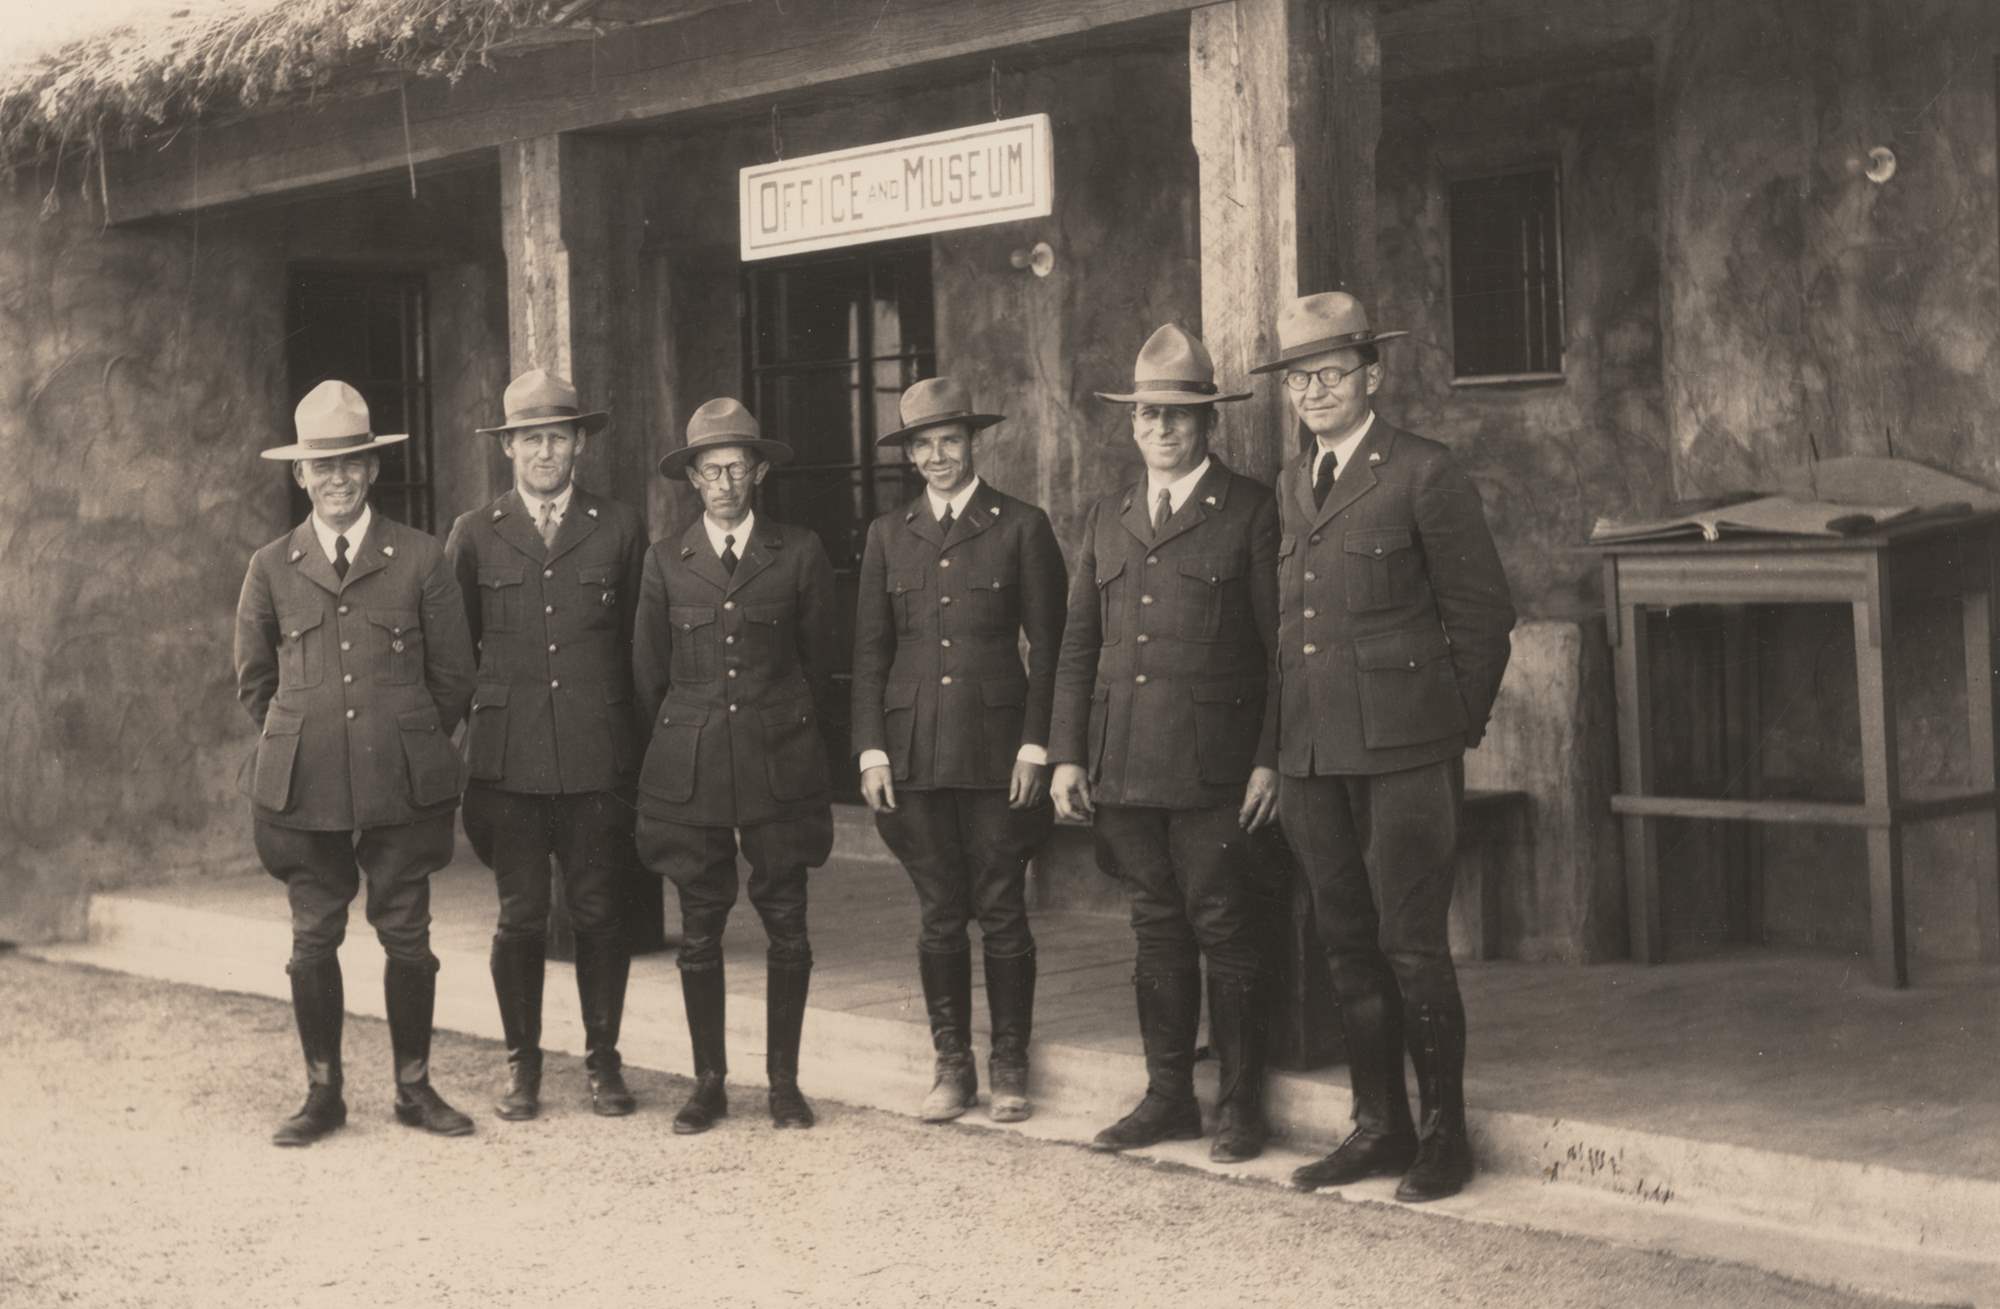
[[[1868,829],[1868,937],[1872,969],[1884,987],[1910,985],[1902,931],[1902,825],[1896,821],[1896,705],[1890,699],[1890,608],[1880,566],[1870,598],[1854,602],[1854,675],[1862,715],[1862,787],[1882,825]]]

